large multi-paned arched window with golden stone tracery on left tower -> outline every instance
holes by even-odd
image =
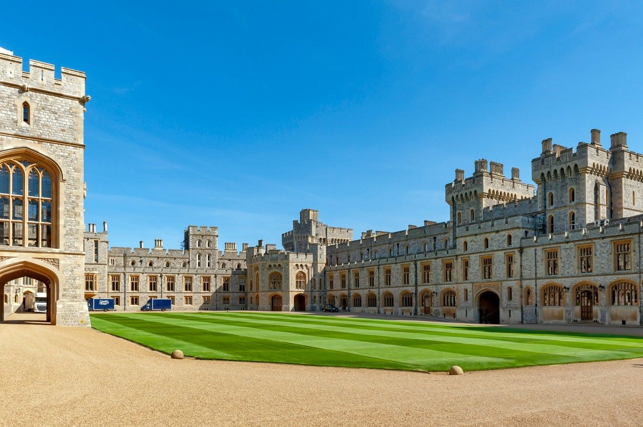
[[[21,159],[0,163],[0,244],[52,247],[54,206],[44,166]]]

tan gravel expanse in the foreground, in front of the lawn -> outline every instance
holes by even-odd
[[[643,359],[462,376],[171,360],[93,329],[0,324],[0,425],[643,425]]]

